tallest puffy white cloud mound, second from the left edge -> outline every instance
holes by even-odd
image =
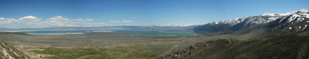
[[[21,17],[19,18],[17,21],[17,23],[21,23],[21,24],[35,24],[37,22],[39,22],[40,20],[42,20],[42,18],[36,18],[36,17],[33,17],[33,16],[27,16],[27,17]]]

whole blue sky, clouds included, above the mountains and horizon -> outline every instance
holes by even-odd
[[[0,0],[0,28],[205,24],[309,9],[308,0]]]

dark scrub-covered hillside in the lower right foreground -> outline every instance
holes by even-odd
[[[280,35],[271,39],[218,39],[200,42],[156,59],[307,59],[309,36]]]

